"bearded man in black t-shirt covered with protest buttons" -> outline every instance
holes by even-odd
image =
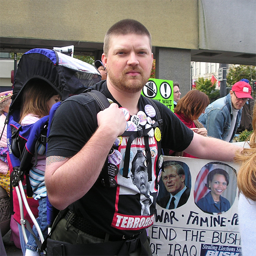
[[[161,125],[156,107],[141,95],[152,62],[151,35],[145,26],[130,19],[117,22],[104,40],[107,80],[94,87],[113,103],[100,111],[94,99],[81,94],[64,101],[55,113],[45,182],[52,205],[68,207],[51,235],[62,241],[60,249],[64,242],[97,243],[83,247],[87,255],[151,255],[145,228],[154,221],[161,146],[226,161],[241,150],[193,133],[169,108],[154,101]],[[125,129],[137,134],[132,141]],[[148,193],[134,185],[131,173],[138,151],[146,159]]]

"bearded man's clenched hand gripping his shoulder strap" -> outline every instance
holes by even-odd
[[[123,111],[116,103],[100,111],[97,114],[97,121],[99,128],[107,128],[108,132],[115,134],[116,137],[124,133],[127,123]]]

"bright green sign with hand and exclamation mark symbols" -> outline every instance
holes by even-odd
[[[143,87],[142,94],[158,100],[173,111],[173,81],[151,78]]]

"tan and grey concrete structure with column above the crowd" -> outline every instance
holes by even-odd
[[[0,52],[74,45],[99,59],[108,28],[133,18],[151,32],[156,77],[184,95],[191,61],[256,65],[255,11],[255,0],[1,1]]]

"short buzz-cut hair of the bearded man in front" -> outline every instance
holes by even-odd
[[[116,22],[113,26],[111,26],[110,29],[108,29],[108,32],[106,33],[104,38],[104,53],[108,55],[111,36],[128,34],[147,35],[149,38],[150,48],[152,50],[151,34],[149,33],[148,29],[137,20],[125,19]]]

